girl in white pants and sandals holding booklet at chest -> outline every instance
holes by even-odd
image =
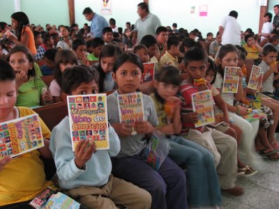
[[[252,121],[249,123],[243,117],[243,115],[248,114],[248,109],[246,107],[236,106],[234,107],[234,99],[239,101],[243,97],[243,87],[241,80],[243,77],[243,72],[239,68],[237,74],[238,79],[238,89],[237,93],[224,93],[223,92],[223,79],[225,68],[236,68],[238,62],[237,49],[234,45],[223,45],[218,53],[218,65],[217,65],[217,76],[214,85],[217,90],[221,93],[223,100],[227,104],[227,109],[229,110],[229,118],[234,119],[234,123],[241,127],[241,144],[239,146],[239,153],[243,153],[245,156],[246,164],[259,167],[259,157],[255,152],[255,137],[257,135],[257,130],[259,129],[259,121]],[[257,173],[252,167],[246,166],[244,168],[239,168],[239,172],[244,172],[246,174]],[[251,175],[249,175],[251,176]]]

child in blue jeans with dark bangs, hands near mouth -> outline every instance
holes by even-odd
[[[158,116],[157,128],[168,136],[171,146],[168,156],[186,168],[188,206],[220,206],[220,185],[211,152],[193,141],[175,135],[181,132],[181,99],[176,97],[180,84],[179,70],[167,66],[156,77],[156,92],[151,94],[151,98]]]

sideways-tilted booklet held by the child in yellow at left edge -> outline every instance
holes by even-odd
[[[0,123],[0,159],[15,157],[45,146],[38,114]]]

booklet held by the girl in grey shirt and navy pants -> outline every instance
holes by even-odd
[[[142,93],[127,93],[117,95],[119,121],[132,125],[132,135],[137,134],[133,129],[135,122],[144,121],[144,105]]]

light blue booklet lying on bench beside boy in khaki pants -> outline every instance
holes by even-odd
[[[50,199],[45,203],[44,209],[77,209],[80,208],[80,203],[71,199],[70,196],[63,194],[61,192],[57,192],[56,194],[52,194]]]

